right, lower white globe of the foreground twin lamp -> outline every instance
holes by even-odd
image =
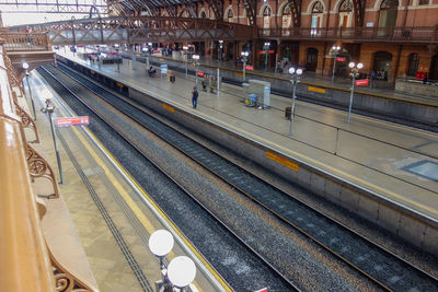
[[[181,256],[175,257],[169,264],[168,278],[169,281],[180,291],[184,291],[184,288],[188,287],[196,277],[195,262],[188,257]]]

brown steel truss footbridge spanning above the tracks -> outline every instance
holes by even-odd
[[[253,27],[237,23],[168,16],[84,19],[34,24],[31,27],[33,32],[48,31],[51,45],[239,40],[252,38],[254,32]],[[24,25],[10,27],[11,31],[24,28]]]

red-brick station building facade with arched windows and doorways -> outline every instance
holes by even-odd
[[[216,17],[208,1],[194,5],[178,7],[178,15]],[[418,72],[438,80],[438,0],[224,0],[222,15],[226,22],[254,25],[255,36],[201,42],[195,44],[198,52],[235,61],[241,50],[251,50],[258,68],[287,61],[330,75],[336,45],[342,48],[336,75],[347,77],[348,62],[360,61],[364,75],[376,71],[390,82]]]

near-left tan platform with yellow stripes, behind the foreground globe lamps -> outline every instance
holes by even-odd
[[[30,83],[43,149],[60,177],[55,167],[49,121],[38,109],[46,98],[53,100],[57,117],[71,116],[71,109],[38,74],[31,73]],[[87,127],[58,128],[57,132],[65,177],[59,189],[101,291],[155,291],[155,281],[162,276],[148,241],[160,229],[171,231],[175,240],[168,260],[177,256],[194,260],[197,273],[193,291],[229,291],[228,284]]]

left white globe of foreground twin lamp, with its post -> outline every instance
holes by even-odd
[[[166,230],[158,230],[149,237],[149,249],[151,253],[160,259],[160,270],[162,280],[155,282],[157,291],[163,289],[164,291],[172,291],[171,283],[168,279],[168,268],[164,262],[165,256],[173,248],[173,236]]]

